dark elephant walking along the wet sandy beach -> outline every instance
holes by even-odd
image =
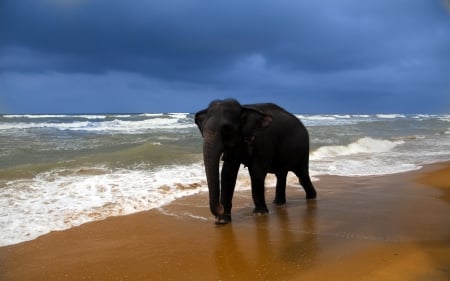
[[[195,114],[203,137],[203,161],[209,206],[216,224],[231,222],[231,208],[241,164],[250,174],[254,214],[269,212],[265,202],[267,173],[276,175],[273,203],[286,203],[286,177],[292,171],[316,198],[309,176],[309,135],[293,114],[273,103],[241,105],[235,99],[214,100]],[[223,165],[219,177],[220,157]]]

